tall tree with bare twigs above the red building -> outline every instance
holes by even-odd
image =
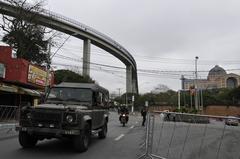
[[[46,53],[49,39],[44,39],[44,35],[49,31],[45,27],[34,23],[35,15],[29,17],[24,12],[41,12],[44,0],[33,1],[32,4],[27,3],[26,0],[5,1],[18,7],[19,13],[14,18],[2,15],[3,23],[0,24],[0,27],[5,32],[2,41],[13,48],[17,58],[24,58],[39,65],[49,64],[49,57]],[[27,20],[26,17],[28,17]]]

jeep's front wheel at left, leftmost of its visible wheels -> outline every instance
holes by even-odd
[[[31,148],[37,144],[37,138],[27,132],[20,131],[18,141],[23,148]]]

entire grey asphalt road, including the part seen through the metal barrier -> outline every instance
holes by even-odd
[[[152,153],[168,159],[240,159],[240,126],[223,122],[188,124],[155,118]],[[130,116],[122,127],[117,113],[110,113],[106,139],[92,137],[87,152],[77,153],[69,141],[40,141],[35,148],[22,149],[17,137],[0,137],[0,158],[135,159],[145,153],[145,127],[139,115]],[[224,130],[224,131],[223,131]],[[0,136],[3,136],[0,133]],[[14,134],[14,133],[13,133]]]

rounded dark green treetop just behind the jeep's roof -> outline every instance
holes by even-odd
[[[90,77],[83,77],[70,70],[57,70],[54,73],[54,81],[56,84],[61,82],[80,82],[80,83],[95,83]]]

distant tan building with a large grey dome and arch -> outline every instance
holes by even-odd
[[[194,79],[187,79],[182,76],[182,89],[194,88]],[[240,85],[240,76],[229,73],[220,66],[216,65],[212,68],[207,76],[207,79],[198,79],[198,89],[215,89],[215,88],[236,88]]]

